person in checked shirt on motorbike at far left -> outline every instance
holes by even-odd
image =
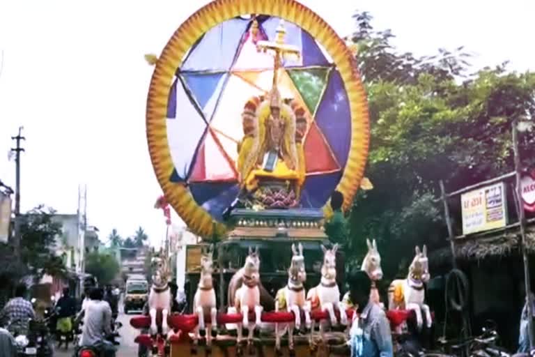
[[[9,324],[10,333],[27,335],[30,319],[36,318],[36,312],[29,301],[24,299],[26,284],[19,284],[15,288],[15,298],[12,298],[0,312],[0,321]]]

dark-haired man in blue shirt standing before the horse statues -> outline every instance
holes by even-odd
[[[390,322],[380,305],[369,301],[371,280],[364,271],[353,273],[348,279],[350,299],[357,309],[350,331],[352,357],[392,357]]]

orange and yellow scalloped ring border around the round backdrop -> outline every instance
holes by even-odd
[[[277,16],[301,26],[325,47],[338,68],[346,86],[351,112],[350,152],[337,186],[337,190],[345,197],[345,209],[350,206],[359,189],[368,158],[370,130],[366,93],[352,53],[334,29],[312,10],[295,0],[215,0],[181,24],[164,47],[155,63],[150,81],[146,112],[148,150],[157,180],[169,204],[180,218],[194,234],[203,237],[224,234],[226,227],[215,222],[210,213],[195,202],[183,183],[169,181],[174,165],[167,142],[167,100],[176,69],[181,66],[186,52],[196,40],[213,26],[243,14]]]

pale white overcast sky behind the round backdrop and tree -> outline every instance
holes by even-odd
[[[0,180],[15,187],[10,137],[24,126],[22,211],[46,204],[76,213],[78,185],[86,184],[88,224],[103,241],[113,228],[130,236],[141,226],[160,243],[165,222],[153,205],[161,189],[145,134],[153,68],[144,54],[160,54],[208,2],[0,0]],[[301,2],[340,36],[352,31],[350,15],[366,10],[400,50],[464,45],[476,68],[509,60],[512,70],[535,70],[534,1]]]

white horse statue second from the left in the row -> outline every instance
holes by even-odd
[[[210,245],[208,252],[203,251],[201,255],[201,279],[197,285],[197,291],[193,298],[193,311],[199,318],[199,324],[195,328],[195,344],[199,344],[201,331],[206,333],[204,317],[210,315],[210,333],[206,334],[206,345],[212,345],[212,335],[217,326],[217,306],[215,289],[212,282],[213,252],[214,246]]]

